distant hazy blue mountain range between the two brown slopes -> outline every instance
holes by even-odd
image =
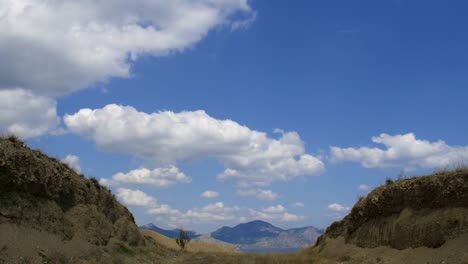
[[[179,234],[177,229],[165,230],[150,223],[140,227],[152,230],[170,238]],[[234,227],[221,227],[206,235],[188,231],[190,237],[196,240],[229,244],[242,251],[294,251],[315,243],[323,230],[308,226],[303,228],[281,229],[268,222],[255,220]]]

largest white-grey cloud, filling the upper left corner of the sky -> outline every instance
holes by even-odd
[[[68,94],[254,18],[247,0],[1,0],[0,88]]]

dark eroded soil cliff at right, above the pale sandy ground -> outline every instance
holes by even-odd
[[[344,237],[359,247],[438,248],[468,232],[468,170],[387,181],[359,199],[317,241]]]

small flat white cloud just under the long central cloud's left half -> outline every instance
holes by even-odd
[[[176,183],[190,183],[192,179],[180,172],[175,166],[149,170],[141,168],[128,173],[116,173],[112,176],[117,184],[152,185],[156,187],[168,187]]]

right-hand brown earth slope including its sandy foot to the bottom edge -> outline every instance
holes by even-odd
[[[311,252],[346,252],[368,263],[468,263],[468,170],[388,180],[328,227]]]

